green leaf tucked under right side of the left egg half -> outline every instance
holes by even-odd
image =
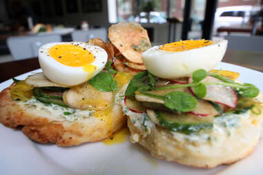
[[[101,92],[110,92],[117,90],[117,81],[108,72],[99,72],[95,77],[88,81],[95,89]]]

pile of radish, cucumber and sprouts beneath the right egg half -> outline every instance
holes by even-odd
[[[140,72],[130,81],[126,105],[133,112],[144,107],[150,119],[168,130],[191,133],[213,127],[213,119],[226,112],[242,114],[251,110],[260,114],[256,99],[260,90],[249,83],[235,83],[236,74],[196,70],[184,79],[159,79],[150,72]],[[128,103],[127,103],[128,101]]]

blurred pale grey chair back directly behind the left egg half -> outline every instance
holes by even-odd
[[[90,29],[90,30],[77,30],[72,32],[72,40],[79,42],[87,42],[93,38],[100,38],[103,41],[107,40],[106,28]]]

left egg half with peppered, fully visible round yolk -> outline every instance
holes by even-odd
[[[74,86],[98,74],[108,54],[97,45],[82,42],[48,43],[39,48],[43,74],[54,83]]]

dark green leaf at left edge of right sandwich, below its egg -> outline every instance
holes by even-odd
[[[136,91],[139,92],[148,91],[150,90],[150,88],[151,85],[150,85],[148,72],[147,71],[139,72],[138,74],[133,76],[133,79],[130,81],[126,89],[125,95],[134,98]]]

